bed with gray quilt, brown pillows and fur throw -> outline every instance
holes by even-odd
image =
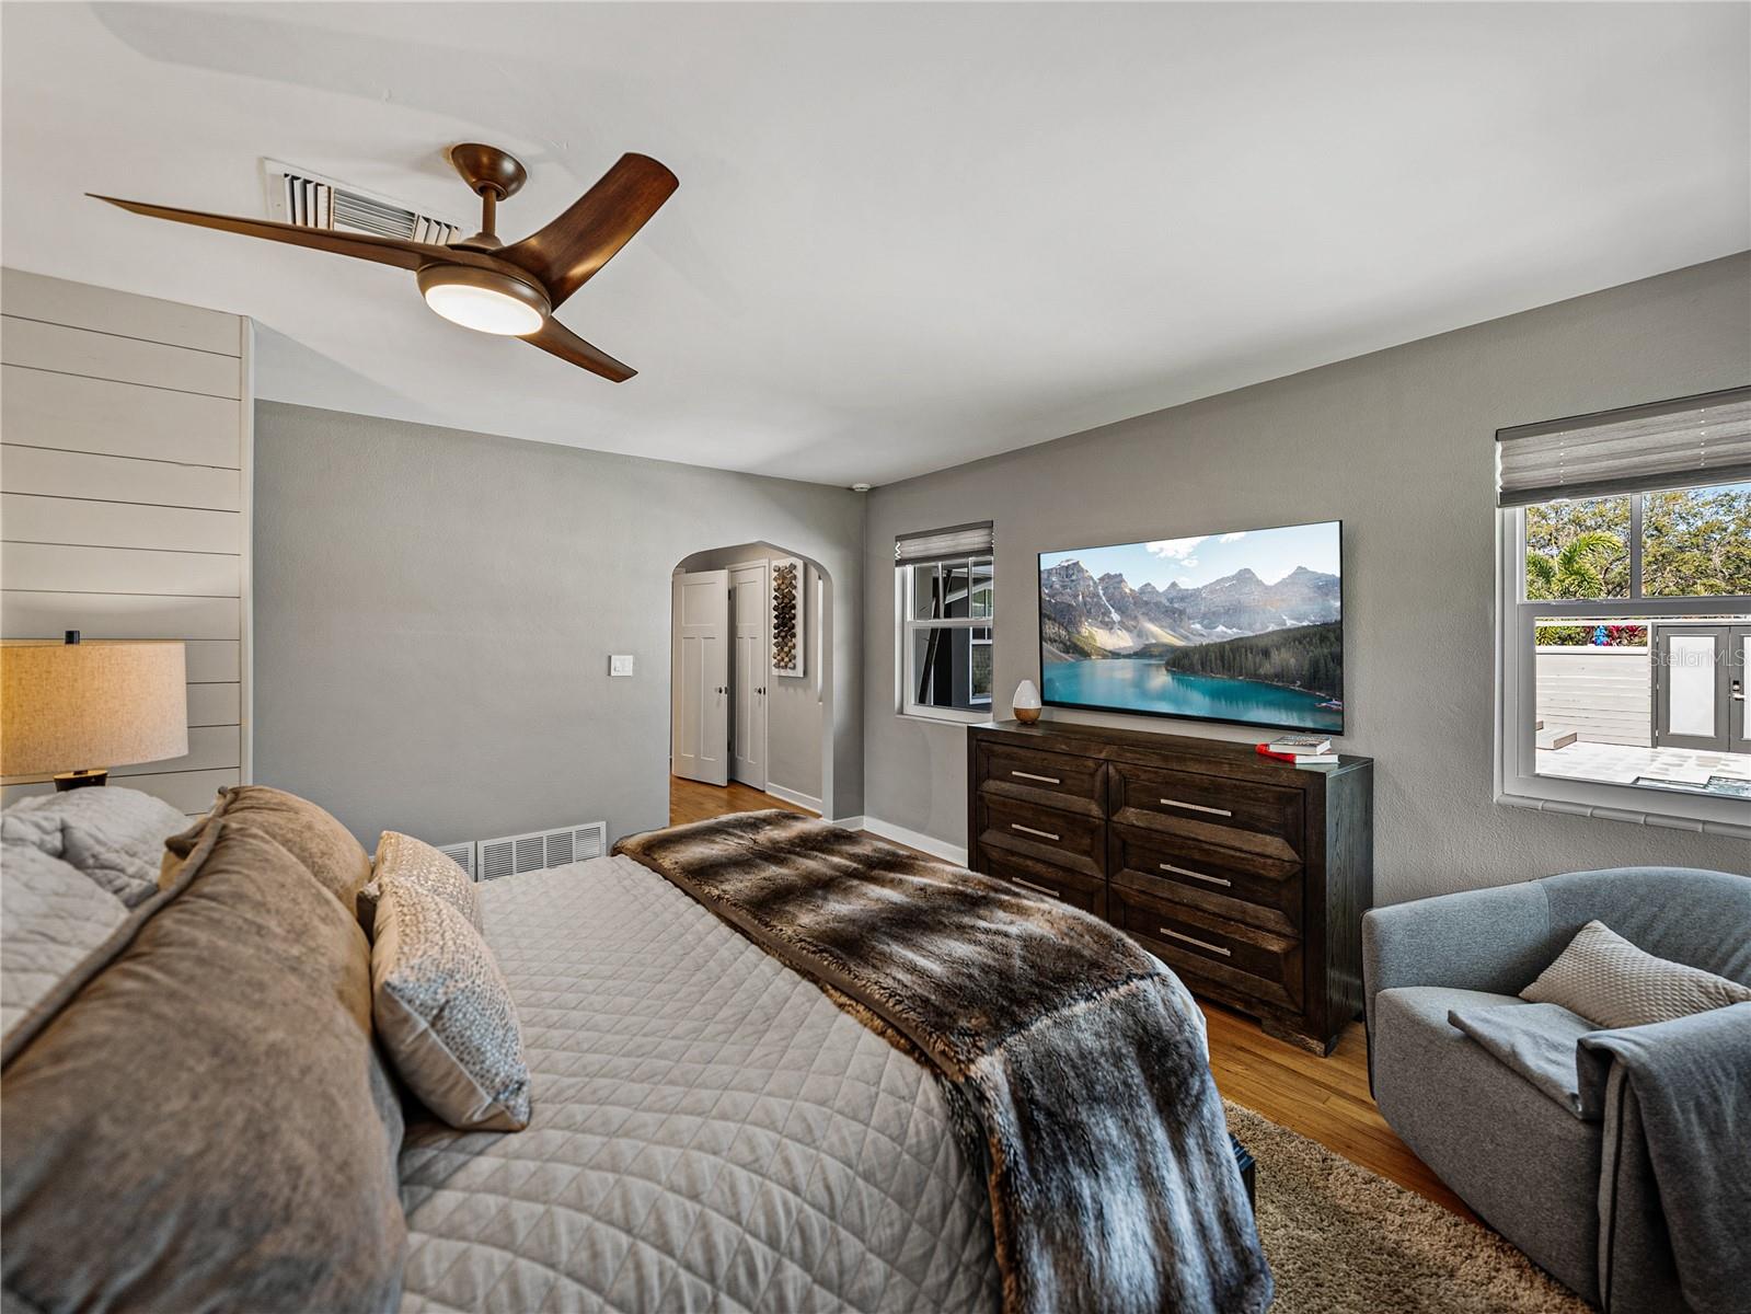
[[[168,839],[154,881],[177,818],[128,794],[7,820],[9,965],[26,932],[40,941],[5,1037],[9,1314],[1269,1302],[1201,1014],[1157,960],[1073,909],[784,813],[464,881],[531,1095],[522,1130],[464,1132],[397,1097],[371,1009],[383,922],[373,946],[354,909],[373,874],[357,841],[306,801],[235,787]],[[107,867],[84,857],[98,850]],[[93,904],[100,876],[114,908]],[[23,915],[26,899],[46,913]],[[902,934],[883,939],[895,918]],[[828,953],[823,974],[774,929],[849,957]],[[858,937],[883,946],[861,967]],[[1087,944],[1119,946],[1119,988],[1065,993],[1065,962],[1094,962],[1075,958]],[[961,958],[975,990],[1007,981],[1002,997],[963,1006],[926,986],[919,1007],[912,967],[940,981]],[[1017,1013],[1035,978],[1040,999]],[[911,1013],[886,1007],[909,983]],[[1145,995],[1149,1009],[1103,1011]],[[958,1074],[914,1025],[932,1007],[972,1055]],[[993,1067],[972,1041],[996,1014],[1009,1039]],[[1087,1062],[1063,1062],[1054,1034]],[[1138,1065],[1168,1053],[1154,1039],[1171,1042],[1171,1077]],[[1112,1072],[1107,1051],[1124,1055]],[[1056,1090],[1037,1081],[1052,1065]],[[1080,1144],[1045,1144],[1066,1137]],[[1030,1177],[1030,1160],[1077,1172]],[[102,1191],[135,1207],[91,1214]]]

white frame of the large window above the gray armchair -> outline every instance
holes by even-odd
[[[1537,731],[1534,729],[1537,720],[1534,625],[1539,617],[1658,620],[1660,617],[1693,615],[1698,608],[1711,613],[1751,615],[1751,597],[1527,601],[1525,510],[1504,506],[1495,513],[1495,801],[1515,808],[1751,837],[1751,804],[1744,799],[1541,776],[1537,774]],[[1632,547],[1632,569],[1639,569],[1639,541]]]

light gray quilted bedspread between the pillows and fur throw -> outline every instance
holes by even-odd
[[[534,1120],[408,1130],[406,1310],[995,1310],[935,1079],[629,858],[480,887]]]

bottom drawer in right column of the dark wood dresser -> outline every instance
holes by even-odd
[[[1194,992],[1299,1009],[1301,941],[1112,887],[1110,920],[1187,979]]]

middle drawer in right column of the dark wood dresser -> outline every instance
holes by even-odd
[[[1112,827],[1112,880],[1280,936],[1301,936],[1299,862],[1201,844],[1161,830]]]

